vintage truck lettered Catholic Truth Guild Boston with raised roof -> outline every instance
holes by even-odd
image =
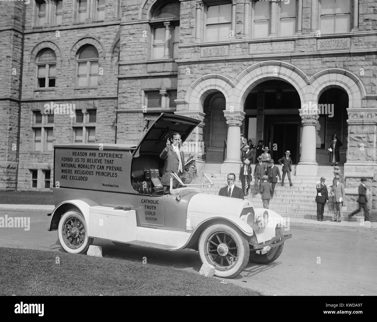
[[[213,185],[205,174],[190,184],[172,173],[170,190],[159,187],[167,138],[179,132],[184,142],[199,122],[161,114],[137,146],[55,145],[48,230],[58,230],[64,250],[86,253],[94,238],[168,251],[192,248],[219,277],[239,274],[249,260],[276,260],[291,234],[282,233],[284,219],[273,210],[203,193],[203,185]],[[179,188],[173,189],[173,179]]]

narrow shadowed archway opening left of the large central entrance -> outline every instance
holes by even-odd
[[[203,104],[203,140],[206,148],[206,163],[222,163],[224,141],[228,125],[224,117],[225,96],[219,91],[209,94]]]

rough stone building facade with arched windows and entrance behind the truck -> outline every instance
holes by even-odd
[[[0,6],[12,8],[1,13],[0,41],[11,43],[3,53],[20,71],[0,67],[8,75],[1,80],[0,189],[47,189],[53,143],[136,144],[161,112],[202,121],[189,138],[206,145],[199,167],[216,162],[222,173],[237,173],[242,132],[254,144],[264,140],[274,159],[290,150],[297,176],[317,176],[319,165],[330,164],[335,133],[347,187],[361,176],[375,185],[374,0]],[[75,104],[76,116],[49,119],[51,102]]]

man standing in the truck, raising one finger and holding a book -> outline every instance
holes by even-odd
[[[185,171],[185,158],[182,151],[179,151],[179,142],[181,141],[181,134],[172,134],[172,143],[169,139],[166,141],[166,148],[162,150],[160,159],[165,160],[164,169],[162,172],[162,186],[164,187],[164,193],[170,189],[170,173],[174,172],[181,177]],[[178,186],[178,182],[173,180],[174,186]]]

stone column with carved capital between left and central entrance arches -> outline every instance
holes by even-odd
[[[238,173],[242,165],[240,160],[241,148],[241,125],[245,118],[244,111],[224,111],[225,119],[228,124],[227,135],[227,155],[221,165],[221,173]]]

